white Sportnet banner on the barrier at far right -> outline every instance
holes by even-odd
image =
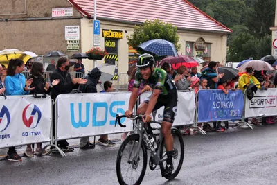
[[[246,97],[245,117],[256,118],[259,116],[277,115],[277,89],[269,88],[267,91],[258,89],[252,100]]]

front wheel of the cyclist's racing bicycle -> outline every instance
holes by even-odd
[[[143,143],[139,146],[139,134],[127,136],[118,150],[116,159],[116,174],[119,184],[141,184],[146,165],[147,151]]]

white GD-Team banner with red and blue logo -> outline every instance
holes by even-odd
[[[50,141],[51,119],[50,96],[0,96],[0,148]]]

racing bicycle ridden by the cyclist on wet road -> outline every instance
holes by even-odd
[[[120,121],[121,118],[125,117],[125,115],[116,115],[116,123],[120,127],[126,127]],[[163,177],[167,159],[165,141],[162,130],[160,130],[158,137],[152,132],[156,128],[151,127],[151,123],[161,125],[161,122],[151,121],[150,123],[143,123],[142,115],[134,115],[130,119],[133,121],[135,128],[134,134],[130,134],[123,141],[116,159],[116,174],[119,184],[141,184],[146,171],[148,150],[150,150],[150,170],[160,169],[161,176]],[[171,133],[174,140],[172,156],[174,170],[170,175],[164,176],[166,179],[174,179],[178,175],[184,160],[184,141],[181,132],[177,128],[172,127]]]

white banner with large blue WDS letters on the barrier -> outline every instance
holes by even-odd
[[[114,127],[116,114],[129,107],[131,93],[61,94],[57,96],[57,139],[114,134],[132,130],[132,121],[122,118]]]

